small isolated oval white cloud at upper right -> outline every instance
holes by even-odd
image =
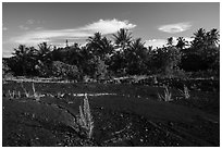
[[[158,29],[165,33],[181,33],[189,29],[192,27],[192,24],[189,22],[183,22],[183,23],[176,23],[176,24],[168,24],[162,25]]]

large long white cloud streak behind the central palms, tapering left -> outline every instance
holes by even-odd
[[[24,26],[23,26],[24,27]],[[114,34],[120,28],[132,29],[136,25],[131,24],[128,21],[119,20],[99,20],[98,22],[77,27],[72,29],[57,29],[57,30],[35,30],[28,32],[20,37],[14,37],[11,41],[17,44],[38,44],[41,41],[53,41],[58,39],[86,39],[92,36],[96,32],[103,35]],[[22,27],[21,27],[22,28]]]

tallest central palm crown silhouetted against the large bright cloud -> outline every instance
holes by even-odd
[[[118,48],[121,48],[124,51],[132,42],[132,33],[127,29],[121,28],[116,35],[113,34],[114,42]]]

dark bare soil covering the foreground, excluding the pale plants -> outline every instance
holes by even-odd
[[[23,83],[32,92],[32,84]],[[2,144],[4,147],[219,147],[219,92],[192,91],[183,99],[171,89],[174,101],[158,101],[163,88],[141,85],[35,84],[45,97],[9,98],[8,90],[24,92],[21,84],[3,85]],[[58,92],[64,94],[62,97]],[[94,134],[87,139],[76,122],[84,97],[73,94],[110,92],[88,97]],[[48,96],[53,95],[53,96]]]

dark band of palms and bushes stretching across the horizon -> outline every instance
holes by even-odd
[[[183,37],[168,38],[161,48],[145,47],[127,29],[120,29],[113,40],[100,33],[88,37],[85,46],[74,44],[57,48],[47,42],[38,49],[20,45],[13,57],[3,60],[3,75],[63,77],[69,79],[106,79],[116,76],[152,75],[184,77],[187,72],[208,72],[219,76],[219,30],[203,28],[194,33],[188,42]]]

